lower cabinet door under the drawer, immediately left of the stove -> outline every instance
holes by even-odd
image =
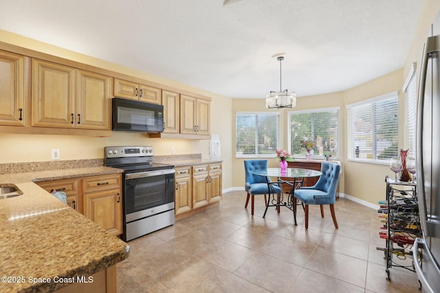
[[[120,189],[84,194],[84,215],[113,235],[122,234]]]

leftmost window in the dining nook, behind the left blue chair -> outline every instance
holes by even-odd
[[[236,157],[274,156],[278,148],[279,113],[237,112]]]

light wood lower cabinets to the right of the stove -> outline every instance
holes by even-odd
[[[176,167],[175,214],[221,200],[221,163]]]

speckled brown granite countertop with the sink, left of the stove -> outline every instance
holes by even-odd
[[[120,172],[84,167],[0,174],[0,185],[15,185],[23,193],[0,199],[0,277],[7,277],[0,292],[52,292],[67,285],[55,277],[87,278],[126,259],[125,242],[34,183]]]

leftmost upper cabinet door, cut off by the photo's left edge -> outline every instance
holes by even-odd
[[[24,56],[0,51],[0,124],[23,126]]]

